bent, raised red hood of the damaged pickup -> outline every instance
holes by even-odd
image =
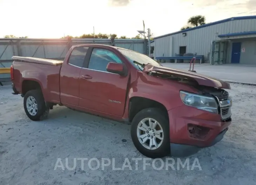
[[[175,77],[186,78],[188,80],[195,80],[199,85],[202,86],[230,89],[230,84],[227,82],[194,72],[180,71],[177,69],[171,69],[163,66],[154,66],[151,64],[147,64],[144,66],[143,73],[149,72],[158,72],[162,74],[173,75]]]

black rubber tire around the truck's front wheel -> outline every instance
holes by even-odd
[[[133,118],[132,126],[131,126],[132,141],[133,141],[134,146],[137,148],[137,150],[139,150],[140,153],[143,154],[144,156],[147,156],[150,158],[161,158],[161,157],[165,157],[170,154],[169,120],[166,117],[164,117],[163,115],[165,115],[165,114],[160,109],[147,108],[147,109],[143,109],[140,112],[138,112],[135,115],[135,117]],[[143,132],[141,135],[147,134],[146,131],[138,130],[139,129],[138,126],[141,125],[142,120],[147,120],[148,118],[151,118],[151,121],[153,120],[153,122],[157,121],[160,125],[157,127],[159,127],[159,128],[162,127],[163,140],[162,140],[162,143],[160,142],[161,145],[160,145],[160,143],[157,144],[157,145],[160,145],[158,148],[157,147],[153,147],[151,149],[150,149],[150,147],[146,148],[148,146],[144,147],[143,144],[141,143],[142,139],[140,138],[140,140],[139,140],[139,138],[138,138],[138,135],[137,135],[138,132],[139,133]],[[156,131],[157,131],[157,129],[154,132],[156,132]],[[148,132],[150,132],[150,131],[148,131]],[[152,130],[151,130],[151,133],[149,133],[149,134],[152,134]],[[147,142],[149,142],[149,146],[150,146],[150,138],[152,136],[153,135],[151,135],[149,137],[149,139],[147,139],[145,137],[145,139],[147,139]],[[161,141],[158,138],[156,140]],[[152,141],[153,141],[153,139],[152,139]],[[144,145],[147,145],[147,142]]]

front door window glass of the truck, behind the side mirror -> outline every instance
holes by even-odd
[[[95,69],[99,71],[107,71],[108,62],[122,63],[121,59],[116,56],[112,51],[104,49],[93,49],[92,55],[89,61],[89,69]]]

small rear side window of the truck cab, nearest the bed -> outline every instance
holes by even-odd
[[[68,63],[74,66],[82,67],[88,48],[89,47],[75,47],[70,54]]]

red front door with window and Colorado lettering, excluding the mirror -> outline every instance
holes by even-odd
[[[109,62],[125,64],[110,50],[94,48],[89,64],[80,72],[79,106],[122,116],[129,75],[107,72]]]

